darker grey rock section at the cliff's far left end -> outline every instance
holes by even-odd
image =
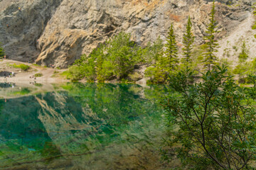
[[[0,42],[10,59],[28,62],[40,54],[36,40],[40,38],[61,1],[0,1]]]

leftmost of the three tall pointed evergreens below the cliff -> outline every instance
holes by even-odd
[[[167,43],[165,45],[166,57],[163,60],[163,66],[165,67],[166,71],[170,73],[176,68],[178,64],[178,46],[176,43],[176,37],[174,35],[174,26],[171,24],[171,28],[168,33]]]

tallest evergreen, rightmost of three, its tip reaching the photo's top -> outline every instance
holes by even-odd
[[[215,40],[215,33],[216,33],[216,21],[215,21],[215,1],[213,1],[213,8],[210,13],[210,23],[207,27],[205,41],[206,41],[206,49],[204,53],[203,62],[206,65],[208,71],[210,71],[210,67],[216,64],[216,56],[214,52],[218,52],[216,48],[218,47],[217,40]]]

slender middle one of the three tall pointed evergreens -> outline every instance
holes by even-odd
[[[188,23],[186,26],[186,33],[183,34],[183,60],[181,60],[184,64],[188,65],[191,62],[191,53],[192,53],[192,45],[195,40],[195,37],[192,33],[192,23],[191,17],[188,16]]]

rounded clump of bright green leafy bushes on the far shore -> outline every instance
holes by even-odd
[[[71,79],[87,79],[104,82],[116,78],[121,80],[134,69],[134,64],[142,62],[142,50],[130,40],[128,33],[119,33],[104,45],[100,45],[87,57],[82,55],[69,68]]]

